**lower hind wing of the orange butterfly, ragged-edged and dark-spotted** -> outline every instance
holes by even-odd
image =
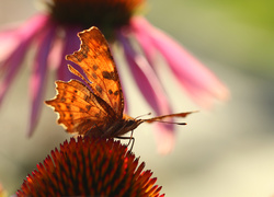
[[[68,132],[84,135],[91,128],[101,128],[107,119],[100,100],[80,81],[56,81],[56,97],[45,103],[58,113],[58,124]]]

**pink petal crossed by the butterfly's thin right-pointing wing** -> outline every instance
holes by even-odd
[[[171,107],[169,105],[167,94],[156,76],[153,69],[149,66],[146,58],[137,54],[130,46],[129,40],[122,34],[118,34],[118,39],[123,44],[125,57],[132,70],[133,77],[142,93],[146,101],[153,108],[157,115],[170,114]],[[156,125],[158,125],[157,123]],[[160,137],[158,138],[158,150],[161,153],[168,153],[173,148],[174,130],[173,125],[158,126]]]

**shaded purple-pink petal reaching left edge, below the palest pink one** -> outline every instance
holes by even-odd
[[[43,27],[45,27],[48,18],[46,15],[36,15],[16,33],[16,36],[20,36],[21,38],[21,43],[2,62],[2,67],[5,68],[5,71],[2,80],[0,81],[0,104],[22,65],[28,46],[35,36],[39,34]]]

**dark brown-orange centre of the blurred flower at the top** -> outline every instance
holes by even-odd
[[[115,30],[129,24],[144,0],[52,0],[48,2],[50,16],[60,24],[81,25],[82,28],[98,26],[106,37]]]

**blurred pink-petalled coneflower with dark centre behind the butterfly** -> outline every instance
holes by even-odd
[[[133,78],[157,115],[171,113],[169,99],[157,76],[160,69],[155,60],[157,53],[162,55],[174,78],[196,103],[208,106],[215,99],[228,97],[226,86],[207,68],[140,15],[145,0],[47,0],[46,3],[45,12],[37,13],[20,27],[0,33],[0,104],[26,51],[33,44],[37,48],[30,79],[28,136],[39,117],[49,67],[56,70],[57,79],[71,79],[64,57],[79,48],[77,33],[90,26],[98,26],[111,44],[117,43],[124,49]],[[138,48],[134,47],[133,39],[139,44]],[[172,126],[162,125],[160,132],[159,147],[168,152],[174,141]]]

